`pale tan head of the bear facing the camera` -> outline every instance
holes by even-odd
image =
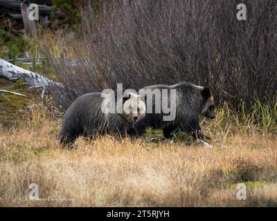
[[[123,113],[122,116],[131,123],[138,122],[145,116],[145,102],[136,93],[128,93],[127,97],[123,97]]]

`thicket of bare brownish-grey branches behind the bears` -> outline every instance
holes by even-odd
[[[64,108],[84,93],[190,81],[238,107],[276,97],[277,2],[246,0],[247,21],[226,0],[136,0],[82,10],[76,66],[55,62]],[[84,64],[84,61],[86,63]]]

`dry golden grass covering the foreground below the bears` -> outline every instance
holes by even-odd
[[[277,206],[277,140],[269,133],[217,129],[212,149],[80,137],[69,151],[57,142],[60,120],[41,110],[24,120],[0,127],[1,206]],[[236,197],[241,182],[247,200]],[[41,200],[29,200],[30,183]]]

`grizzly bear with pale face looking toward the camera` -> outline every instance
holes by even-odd
[[[92,138],[104,134],[137,135],[134,124],[145,116],[145,103],[135,93],[119,101],[115,102],[106,93],[87,93],[75,99],[64,115],[60,142],[72,144],[80,135]],[[114,102],[116,107],[122,105],[116,109],[122,111],[111,111],[109,102]]]

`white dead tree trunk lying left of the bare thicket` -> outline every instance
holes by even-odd
[[[58,82],[52,81],[51,79],[38,75],[37,73],[33,73],[30,70],[15,66],[3,59],[0,59],[0,77],[6,78],[9,81],[18,81],[19,79],[23,79],[25,84],[30,86],[30,88],[42,88],[42,98],[51,86],[63,87],[62,84]]]

